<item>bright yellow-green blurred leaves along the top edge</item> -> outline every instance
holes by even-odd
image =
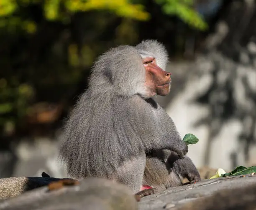
[[[143,0],[136,1],[143,3]],[[163,12],[168,15],[177,15],[185,23],[200,30],[205,30],[207,24],[193,9],[193,0],[155,0],[162,5]],[[47,20],[69,23],[71,15],[79,11],[108,10],[123,18],[148,20],[150,14],[142,4],[132,4],[129,0],[1,0],[0,27],[22,26],[28,33],[34,33],[36,24],[33,20],[23,20],[15,12],[30,4],[40,4],[44,8]],[[14,16],[12,16],[14,15]]]

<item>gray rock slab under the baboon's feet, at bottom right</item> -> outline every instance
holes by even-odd
[[[202,180],[144,197],[139,210],[255,210],[256,176]]]

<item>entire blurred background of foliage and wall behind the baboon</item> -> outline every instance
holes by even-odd
[[[111,47],[157,39],[199,168],[256,165],[255,0],[0,0],[0,177],[65,177],[63,121]]]

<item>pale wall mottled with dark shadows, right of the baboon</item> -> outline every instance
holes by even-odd
[[[194,64],[182,66],[182,71],[175,68],[183,72],[179,75],[183,79],[176,83],[174,92],[157,101],[172,117],[182,137],[193,133],[200,139],[189,145],[189,157],[197,167],[231,170],[238,165],[255,165],[254,133],[248,128],[254,131],[256,107],[253,96],[248,95],[252,88],[246,90],[256,81],[254,67],[237,65],[221,53],[200,55]],[[175,78],[176,71],[173,75]],[[251,83],[243,84],[245,78]]]

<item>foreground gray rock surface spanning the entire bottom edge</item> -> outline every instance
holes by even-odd
[[[59,185],[62,181],[2,200],[0,210],[256,210],[256,175],[202,180],[140,202],[126,186],[110,180],[86,178],[70,186]]]

